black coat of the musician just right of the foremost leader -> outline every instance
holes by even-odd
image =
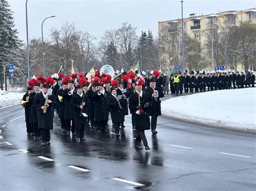
[[[153,98],[153,104],[149,106],[149,114],[150,114],[150,116],[159,116],[159,115],[161,115],[160,97],[164,97],[164,94],[158,87],[154,88],[154,90],[158,91],[158,97]],[[149,86],[149,87],[147,87],[146,92],[152,96],[152,94],[154,93],[154,90],[153,90],[153,88],[151,88]]]

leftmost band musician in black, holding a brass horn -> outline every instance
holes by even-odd
[[[29,86],[28,91],[23,95],[23,98],[22,98],[23,101],[26,101],[26,103],[23,104],[23,107],[25,108],[25,122],[26,122],[27,136],[33,136],[33,126],[29,122],[29,117],[30,117],[31,104],[35,95],[36,93],[34,92],[33,87]]]

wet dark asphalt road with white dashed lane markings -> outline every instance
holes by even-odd
[[[43,147],[39,140],[26,137],[23,114],[20,105],[0,110],[1,190],[255,190],[256,187],[255,135],[159,117],[158,134],[146,131],[151,150],[138,151],[134,149],[130,116],[126,116],[126,128],[121,129],[120,138],[111,133],[96,135],[86,129],[86,141],[79,144],[72,136],[63,135],[55,117],[51,145]],[[109,132],[114,132],[111,120]],[[41,156],[54,161],[38,158]]]

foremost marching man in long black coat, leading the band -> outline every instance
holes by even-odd
[[[142,91],[142,85],[144,83],[141,77],[137,79],[136,92],[131,94],[129,97],[129,108],[135,114],[136,123],[136,140],[135,148],[142,150],[140,142],[143,141],[146,150],[150,147],[147,144],[147,139],[145,136],[145,130],[150,130],[150,116],[149,116],[149,105],[152,104],[152,95],[149,95],[145,91]]]

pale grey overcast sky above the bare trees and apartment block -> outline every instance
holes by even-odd
[[[256,0],[184,0],[183,15],[190,13],[211,14],[227,10],[255,8]],[[19,37],[26,40],[25,0],[8,0],[14,11],[15,25]],[[56,15],[44,23],[44,38],[49,38],[52,27],[60,28],[62,23],[76,23],[79,31],[87,31],[100,38],[105,30],[117,29],[124,22],[137,27],[137,34],[153,31],[157,36],[158,22],[181,18],[179,0],[28,0],[29,38],[41,38],[41,24],[44,18]]]

